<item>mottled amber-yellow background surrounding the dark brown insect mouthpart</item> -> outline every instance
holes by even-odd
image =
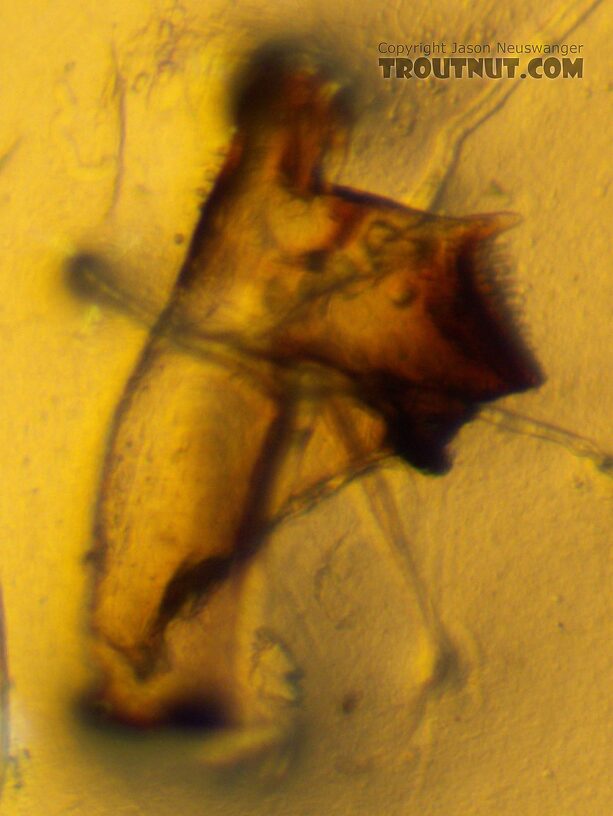
[[[89,671],[82,559],[97,473],[145,329],[76,300],[67,260],[95,247],[135,291],[163,300],[184,251],[176,236],[189,235],[198,188],[210,186],[230,134],[229,79],[268,36],[312,37],[359,89],[336,178],[411,203],[437,138],[480,86],[385,84],[377,43],[520,42],[590,8],[28,0],[3,10],[0,579],[12,681],[3,814],[613,809],[610,480],[564,447],[481,422],[454,444],[444,479],[386,471],[458,651],[446,685],[423,693],[414,599],[375,546],[381,533],[358,485],[286,524],[263,561],[269,582],[253,614],[305,671],[299,750],[283,778],[272,781],[270,768],[219,776],[199,764],[197,735],[102,732],[73,709]],[[585,45],[582,80],[526,81],[467,136],[439,202],[453,214],[525,216],[508,248],[548,381],[506,407],[607,450],[610,22],[596,4],[567,40]],[[351,714],[340,705],[348,693],[359,701]]]

